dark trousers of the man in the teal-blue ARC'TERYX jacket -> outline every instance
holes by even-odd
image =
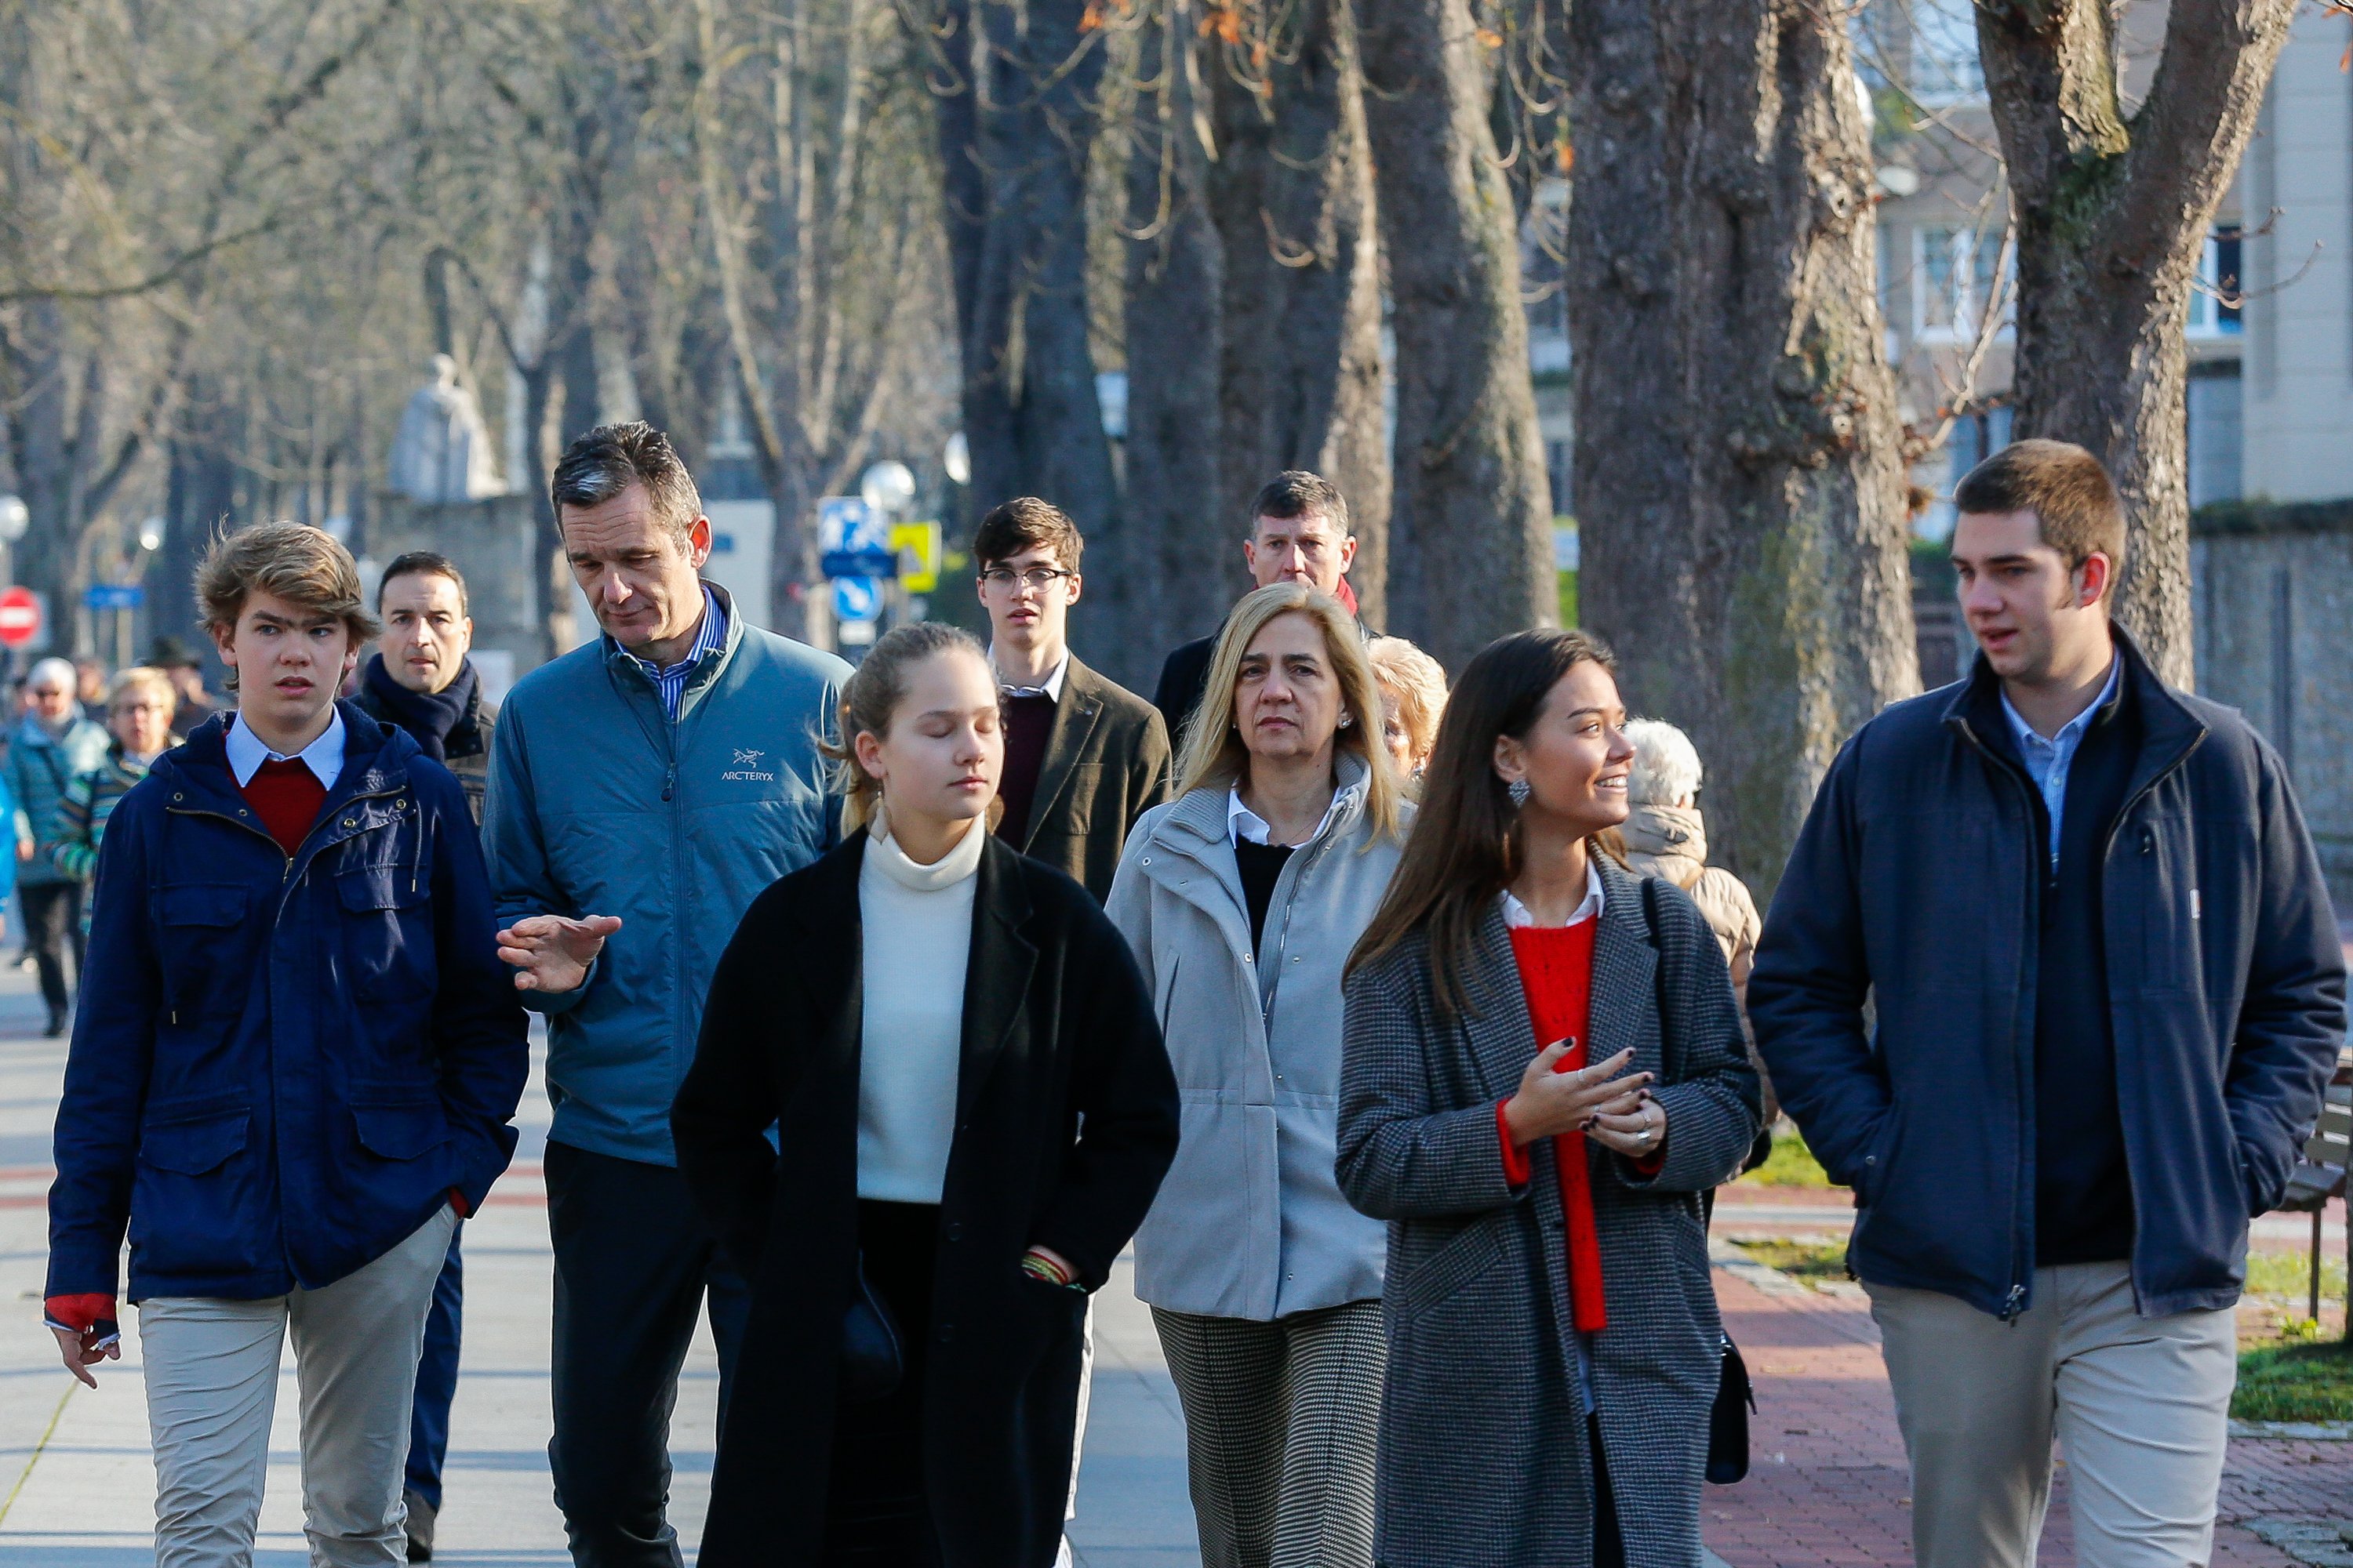
[[[673,1166],[551,1143],[555,1244],[555,1507],[579,1568],[682,1568],[671,1497],[671,1408],[694,1319],[711,1300],[720,1425],[751,1286],[720,1262]]]

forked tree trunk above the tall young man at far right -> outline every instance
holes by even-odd
[[[2019,244],[2017,435],[2089,447],[2129,524],[2115,614],[2188,686],[2191,280],[2287,42],[2294,0],[2174,0],[2129,118],[2099,0],[1979,0]],[[2261,223],[2261,214],[2249,214]]]

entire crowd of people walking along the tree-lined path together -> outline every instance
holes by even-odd
[[[1254,588],[1153,701],[1073,651],[1042,498],[979,522],[986,639],[856,668],[701,578],[649,425],[551,498],[602,635],[496,712],[452,562],[369,607],[299,524],[207,555],[233,712],[179,745],[184,677],[106,729],[73,665],[26,684],[59,1027],[89,976],[45,1314],[87,1382],[139,1307],[165,1568],[252,1561],[289,1335],[313,1561],[433,1556],[527,1011],[581,1568],[682,1563],[704,1316],[704,1563],[1066,1561],[1127,1248],[1207,1568],[1697,1568],[1746,1462],[1708,1201],[1781,1107],[1861,1208],[1918,1561],[2031,1563],[2054,1436],[2080,1561],[2205,1561],[2344,961],[2278,757],[2113,625],[2089,454],[1962,482],[1981,656],[1842,748],[1762,919],[1609,649],[1527,630],[1449,689],[1365,625],[1318,475],[1238,520]]]

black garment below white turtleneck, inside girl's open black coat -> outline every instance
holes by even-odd
[[[906,1378],[873,1403],[833,1415],[821,1568],[939,1568],[939,1530],[922,1490],[922,1368],[932,1342],[939,1208],[859,1199],[866,1281],[899,1324]]]

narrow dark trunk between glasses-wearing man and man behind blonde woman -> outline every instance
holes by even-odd
[[[1240,550],[1219,501],[1221,256],[1195,120],[1195,12],[1167,0],[1144,26],[1127,148],[1127,505],[1113,571],[1089,571],[1101,588],[1087,590],[1113,590],[1094,621],[1118,635],[1092,639],[1087,658],[1148,691],[1162,654],[1226,614],[1233,583],[1221,567]]]

